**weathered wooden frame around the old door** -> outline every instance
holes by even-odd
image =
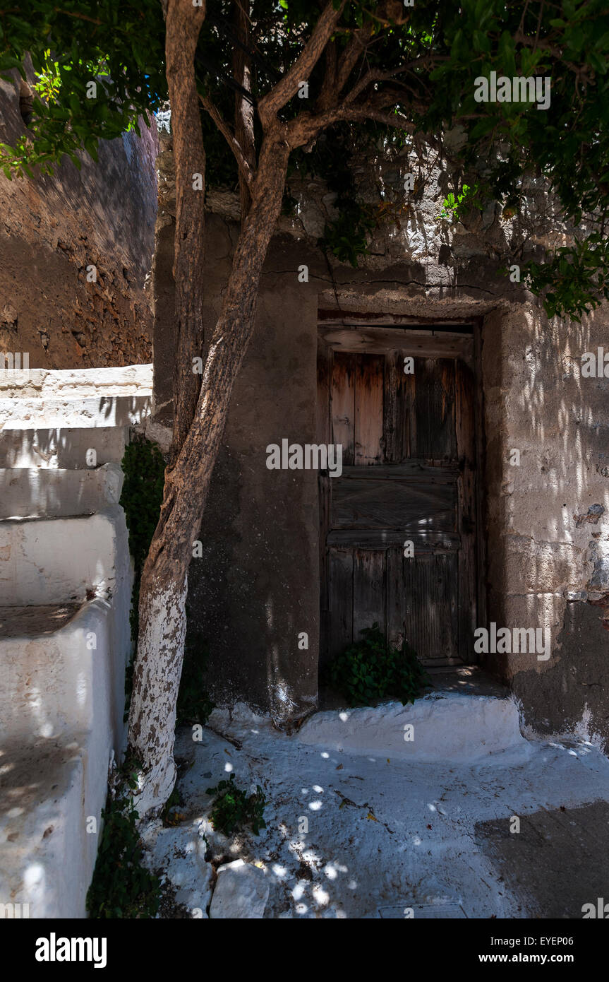
[[[317,390],[317,440],[331,443],[331,377],[334,352],[386,354],[399,349],[414,357],[454,358],[466,366],[466,371],[455,372],[455,433],[457,457],[461,475],[458,481],[457,521],[463,533],[468,514],[474,518],[475,529],[471,537],[464,535],[465,549],[459,550],[459,597],[470,594],[467,607],[459,605],[459,637],[473,639],[474,629],[486,625],[486,545],[485,506],[483,494],[483,391],[482,391],[482,320],[468,318],[450,321],[422,322],[414,318],[398,318],[380,315],[371,318],[365,314],[343,315],[318,320],[318,390]],[[472,413],[459,412],[463,402],[472,400]],[[465,420],[471,419],[471,427]],[[473,432],[471,431],[473,428]],[[464,447],[472,447],[473,459],[464,453]],[[328,661],[329,638],[329,575],[327,538],[330,527],[330,477],[319,477],[319,557],[320,557],[320,665]],[[472,574],[473,568],[473,574]],[[479,658],[472,651],[466,659],[435,659],[436,666],[473,665]]]

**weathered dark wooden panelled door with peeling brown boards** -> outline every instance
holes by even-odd
[[[319,439],[343,448],[320,477],[322,664],[375,622],[424,663],[475,660],[471,360],[471,337],[321,331]]]

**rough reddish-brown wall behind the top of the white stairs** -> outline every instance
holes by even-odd
[[[0,82],[0,141],[25,131],[17,88]],[[154,120],[104,141],[53,176],[0,174],[0,350],[32,368],[148,362],[152,315],[144,293],[156,216]],[[86,282],[86,266],[97,282]]]

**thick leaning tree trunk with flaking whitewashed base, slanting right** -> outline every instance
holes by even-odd
[[[174,738],[192,543],[205,509],[234,380],[254,329],[260,275],[281,207],[289,146],[280,125],[265,136],[252,204],[235,249],[194,419],[166,471],[161,517],[141,578],[129,751],[141,766],[135,806],[162,806],[176,780]]]

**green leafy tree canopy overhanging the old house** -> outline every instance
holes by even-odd
[[[234,6],[209,0],[195,56],[211,183],[234,181],[237,169],[245,184],[251,180],[261,113],[279,112],[291,128],[292,166],[317,169],[343,187],[345,140],[354,131],[359,141],[382,134],[399,142],[459,125],[467,136],[464,174],[485,164],[482,200],[515,211],[527,179],[538,176],[556,196],[557,221],[575,227],[571,245],[527,267],[547,313],[577,319],[609,299],[609,10],[603,0],[414,0],[412,6],[252,0],[240,27]],[[302,78],[293,77],[324,18],[332,19],[330,40],[324,35],[321,57],[311,49],[317,57],[309,59],[310,70],[301,58]],[[83,150],[95,158],[100,138],[137,130],[138,120],[167,97],[159,0],[26,0],[19,8],[5,0],[3,77],[11,70],[25,77],[27,54],[36,76],[33,115],[14,146],[0,146],[7,175],[52,167],[65,154],[78,166]],[[549,79],[549,105],[477,101],[475,81],[491,73]],[[87,95],[90,82],[94,97]],[[308,83],[306,99],[299,97],[300,82]],[[317,142],[322,131],[325,146]],[[365,216],[350,187],[338,203],[347,237],[361,240]]]

